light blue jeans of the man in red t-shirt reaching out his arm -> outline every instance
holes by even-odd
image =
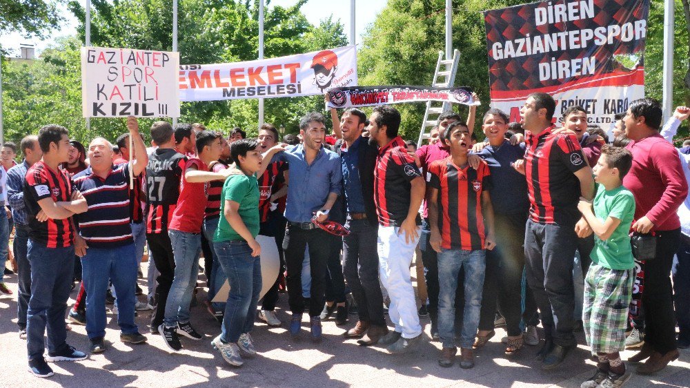
[[[177,322],[189,322],[189,304],[192,302],[199,274],[201,235],[172,229],[168,231],[168,235],[175,258],[175,277],[168,293],[164,322],[166,327],[175,327]]]

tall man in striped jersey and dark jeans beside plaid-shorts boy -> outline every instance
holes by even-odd
[[[542,369],[558,367],[577,345],[573,336],[573,258],[578,236],[591,233],[580,220],[578,201],[580,196],[591,200],[594,194],[591,168],[583,159],[578,139],[553,133],[554,111],[550,95],[529,95],[520,109],[527,141],[524,162],[514,164],[526,174],[531,202],[524,251],[527,282],[546,339],[537,356]]]

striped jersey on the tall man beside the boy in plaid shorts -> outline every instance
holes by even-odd
[[[580,219],[580,181],[573,173],[587,166],[575,135],[526,133],[524,171],[529,217],[541,224],[575,225]]]

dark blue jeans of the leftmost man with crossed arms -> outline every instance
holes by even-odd
[[[26,316],[26,350],[29,360],[43,357],[48,327],[48,352],[59,353],[67,347],[65,311],[75,271],[75,247],[48,248],[29,240],[31,263],[31,298]]]

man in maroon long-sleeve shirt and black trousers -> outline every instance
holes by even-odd
[[[660,134],[662,110],[658,101],[633,101],[623,118],[625,135],[632,140],[626,148],[633,154],[633,166],[623,186],[635,195],[632,229],[657,236],[656,255],[644,264],[644,346],[631,362],[647,359],[638,374],[652,374],[678,358],[676,320],[671,293],[671,264],[680,244],[678,206],[688,186],[678,151]]]

